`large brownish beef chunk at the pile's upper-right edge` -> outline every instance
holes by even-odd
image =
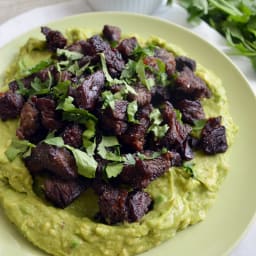
[[[184,67],[176,79],[175,96],[180,99],[197,100],[210,98],[211,92],[205,82],[190,68]]]

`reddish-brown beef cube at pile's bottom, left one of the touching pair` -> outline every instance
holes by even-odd
[[[123,189],[107,189],[99,196],[100,214],[107,224],[127,220],[127,196],[128,191]]]

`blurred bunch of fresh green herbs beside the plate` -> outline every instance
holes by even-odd
[[[251,59],[256,70],[255,0],[179,0],[189,12],[189,22],[204,20],[240,53]]]

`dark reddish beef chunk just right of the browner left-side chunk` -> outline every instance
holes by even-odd
[[[62,127],[62,123],[56,112],[56,103],[53,99],[46,97],[38,98],[36,100],[36,107],[40,110],[41,123],[44,128],[53,131]]]

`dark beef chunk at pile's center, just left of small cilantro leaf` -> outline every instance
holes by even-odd
[[[115,108],[107,107],[101,118],[101,128],[111,135],[122,135],[127,129],[128,102],[125,100],[115,101]]]

